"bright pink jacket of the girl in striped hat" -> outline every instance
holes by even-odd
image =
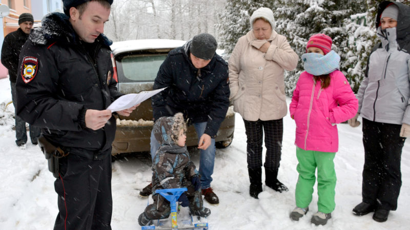
[[[293,91],[291,117],[296,122],[295,144],[304,150],[337,152],[339,139],[335,124],[353,118],[358,101],[340,71],[330,74],[330,85],[322,89],[313,75],[303,72]]]

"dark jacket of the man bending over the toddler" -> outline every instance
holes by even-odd
[[[191,42],[169,52],[161,64],[153,88],[168,88],[152,97],[153,116],[182,112],[190,122],[208,122],[204,133],[215,138],[229,107],[228,64],[215,54],[207,66],[195,68]]]

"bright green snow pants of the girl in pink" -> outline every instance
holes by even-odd
[[[296,167],[299,173],[295,191],[296,206],[306,208],[311,203],[317,167],[318,211],[331,213],[335,210],[335,155],[335,152],[306,151],[296,147],[296,157],[299,161]]]

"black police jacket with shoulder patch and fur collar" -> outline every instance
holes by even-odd
[[[104,128],[85,127],[86,109],[104,110],[120,97],[111,78],[109,45],[103,34],[87,52],[62,13],[47,15],[22,49],[17,78],[17,115],[42,128],[51,143],[70,153],[101,159],[111,154],[114,117]],[[94,57],[90,56],[94,54]]]

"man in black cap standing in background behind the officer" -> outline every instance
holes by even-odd
[[[16,77],[18,68],[18,57],[24,43],[29,37],[30,30],[33,28],[34,18],[30,13],[22,13],[18,17],[19,28],[9,33],[3,42],[2,47],[2,64],[9,70],[9,79],[11,86],[11,100],[14,108],[16,107]],[[17,146],[24,146],[27,143],[26,122],[15,114],[15,128],[16,128],[16,144]],[[40,128],[30,125],[30,139],[31,143],[37,144],[38,136],[40,135]]]

